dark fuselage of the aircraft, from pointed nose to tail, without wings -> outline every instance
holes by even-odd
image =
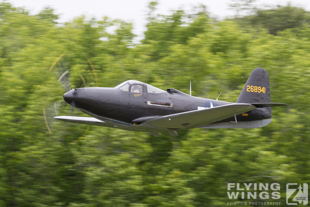
[[[65,93],[64,100],[97,119],[122,124],[134,124],[133,121],[140,117],[163,116],[231,104],[190,96],[173,88],[163,93],[148,93],[144,88],[142,92],[122,91],[119,88],[76,88]],[[238,121],[269,119],[271,110],[269,107],[256,108],[237,115],[236,118]],[[235,121],[235,118],[219,122],[227,121]]]

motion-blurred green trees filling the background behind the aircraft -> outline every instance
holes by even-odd
[[[219,21],[204,6],[163,16],[156,4],[135,44],[122,20],[58,25],[52,8],[33,16],[0,3],[0,206],[224,206],[249,201],[227,196],[227,183],[243,182],[279,183],[284,206],[286,183],[309,183],[310,12],[235,5],[248,15]],[[153,137],[53,119],[86,116],[63,101],[69,88],[127,79],[186,93],[195,81],[194,96],[235,102],[239,77],[257,67],[272,102],[288,104],[263,128]]]

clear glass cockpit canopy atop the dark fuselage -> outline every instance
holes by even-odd
[[[147,83],[143,83],[137,80],[126,80],[125,82],[115,86],[114,88],[118,88],[122,91],[131,91],[131,92],[136,92],[136,91],[132,91],[134,88],[135,90],[137,90],[136,86],[137,85],[142,85],[142,86],[146,86],[147,92],[148,93],[164,93],[166,91],[156,88],[154,86],[151,86]],[[145,90],[145,89],[144,89]],[[142,92],[142,91],[141,91]]]

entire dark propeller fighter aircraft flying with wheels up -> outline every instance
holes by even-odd
[[[76,88],[64,100],[92,117],[56,116],[55,119],[131,131],[166,131],[189,128],[257,128],[269,124],[272,106],[269,76],[256,68],[236,103],[194,97],[168,88],[166,91],[136,80],[114,88]]]

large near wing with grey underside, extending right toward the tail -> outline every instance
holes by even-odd
[[[242,114],[255,109],[256,107],[250,104],[234,103],[224,106],[216,106],[209,109],[193,110],[177,114],[159,116],[151,119],[140,121],[140,126],[158,128],[158,129],[186,129],[206,126],[216,121],[226,119],[238,114]]]

